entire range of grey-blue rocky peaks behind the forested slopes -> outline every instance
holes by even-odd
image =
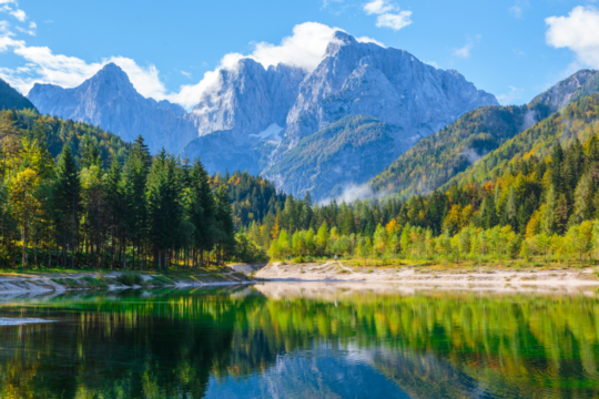
[[[35,84],[28,98],[41,113],[125,141],[141,134],[153,152],[201,156],[211,173],[262,173],[280,190],[315,198],[367,182],[422,137],[498,105],[456,71],[344,32],[314,71],[252,59],[219,70],[189,112],[143,98],[115,64],[73,89]]]

